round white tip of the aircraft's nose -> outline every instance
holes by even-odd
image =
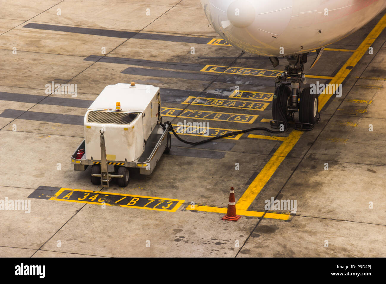
[[[229,22],[239,28],[250,26],[256,17],[255,8],[248,0],[236,0],[227,9]]]

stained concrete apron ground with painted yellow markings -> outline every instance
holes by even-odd
[[[1,257],[386,256],[385,11],[328,46],[311,70],[316,53],[309,55],[308,83],[342,82],[341,97],[320,96],[312,131],[291,122],[284,133],[252,131],[198,146],[173,137],[152,175],[132,171],[127,187],[112,181],[107,189],[91,184],[90,168],[74,171],[70,158],[84,139],[83,116],[105,86],[160,87],[164,121],[206,122],[209,136],[220,136],[269,128],[274,78],[286,60],[273,68],[220,40],[199,1],[15,0],[2,7]],[[362,52],[369,47],[372,54]],[[76,92],[47,90],[52,82]],[[230,187],[237,222],[221,219]],[[58,192],[76,198],[55,198]],[[154,203],[96,202],[108,194],[179,203],[168,212]],[[272,199],[296,202],[296,210],[267,209]],[[19,210],[10,205],[21,200]]]

